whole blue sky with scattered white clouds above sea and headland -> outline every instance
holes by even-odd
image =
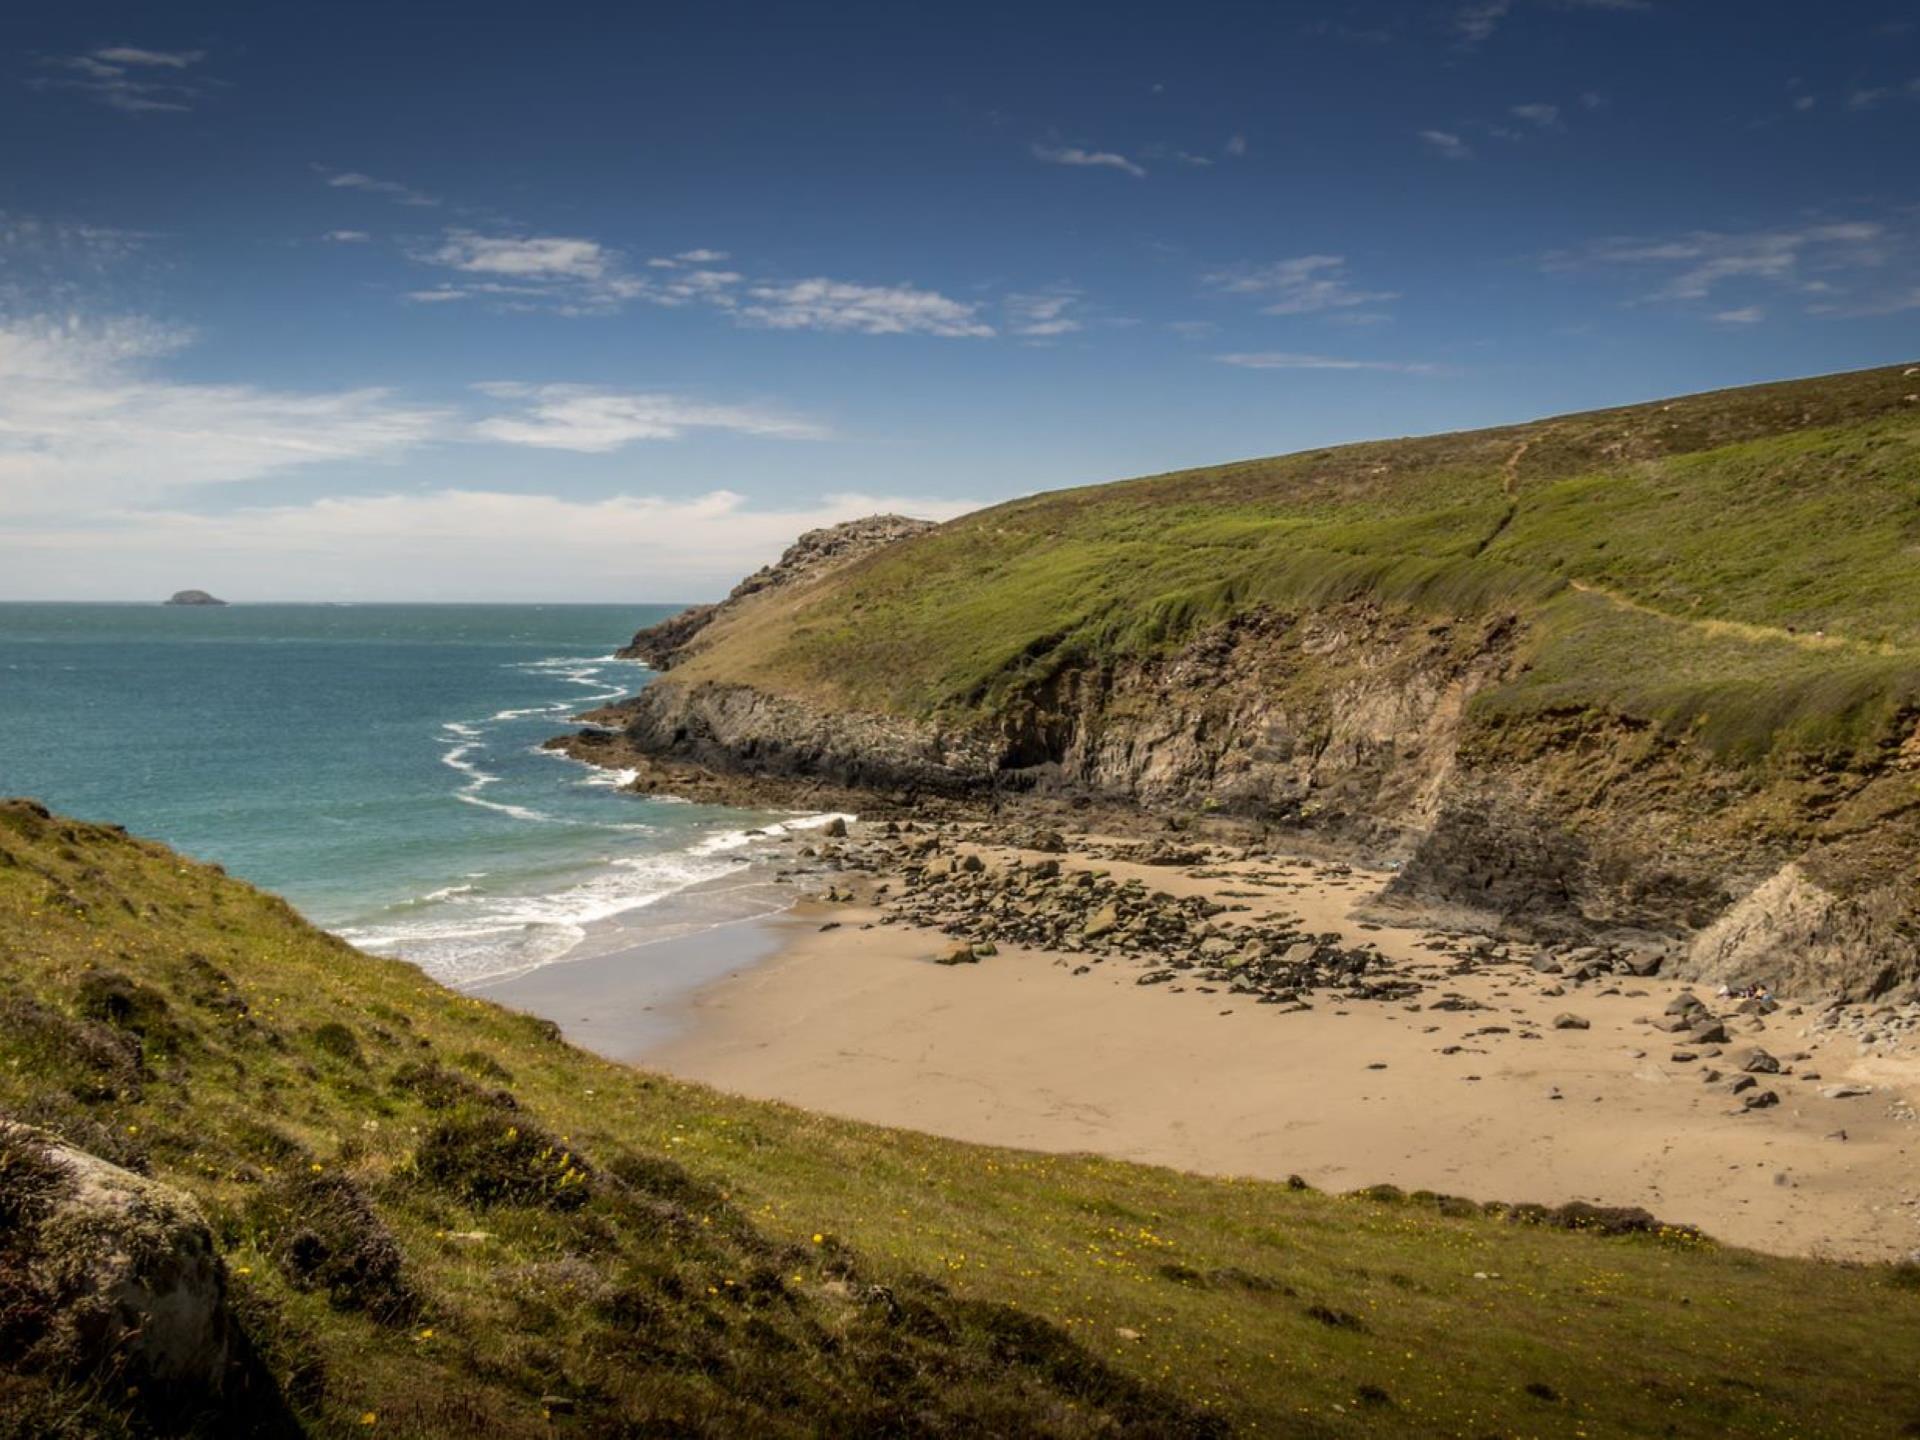
[[[10,6],[0,599],[795,534],[1920,353],[1910,0]]]

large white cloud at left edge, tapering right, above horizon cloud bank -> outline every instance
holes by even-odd
[[[188,332],[140,319],[0,321],[0,511],[84,513],[328,461],[392,459],[442,415],[386,390],[182,384]]]

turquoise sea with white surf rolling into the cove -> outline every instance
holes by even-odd
[[[538,749],[672,607],[0,605],[0,795],[152,835],[455,983],[753,858],[768,816]]]

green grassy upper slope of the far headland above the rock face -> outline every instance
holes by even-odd
[[[1864,371],[1035,495],[743,612],[684,672],[964,720],[1236,611],[1365,599],[1523,616],[1490,712],[1849,764],[1920,705],[1916,390]]]

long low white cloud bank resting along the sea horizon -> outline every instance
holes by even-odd
[[[881,511],[945,520],[972,509],[862,493],[762,509],[726,490],[595,501],[438,490],[223,515],[111,513],[0,532],[0,588],[38,599],[154,599],[196,584],[242,601],[691,601],[722,595],[804,530]]]

